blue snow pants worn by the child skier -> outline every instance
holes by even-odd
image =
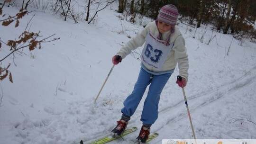
[[[121,112],[126,116],[132,116],[143,97],[146,87],[151,83],[144,102],[140,120],[143,125],[154,124],[158,117],[158,103],[161,92],[171,75],[172,73],[152,75],[141,68],[134,89],[124,101],[124,108],[121,109]],[[153,76],[153,78],[150,78],[151,76]]]

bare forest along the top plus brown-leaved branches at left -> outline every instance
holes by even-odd
[[[8,7],[16,6],[20,9],[16,16],[0,18],[3,26],[9,26],[9,24],[16,21],[16,27],[18,27],[19,19],[29,13],[27,11],[28,6],[40,8],[43,11],[50,9],[54,14],[63,15],[64,20],[72,18],[75,23],[78,23],[79,20],[88,21],[88,24],[91,22],[95,23],[98,12],[113,2],[118,1],[119,7],[117,12],[122,13],[120,19],[126,19],[131,23],[139,23],[146,26],[148,21],[143,20],[144,17],[156,19],[161,7],[166,4],[174,4],[179,9],[179,21],[185,22],[191,28],[199,28],[203,24],[206,26],[206,29],[209,25],[213,31],[232,34],[234,38],[241,41],[241,44],[246,38],[251,39],[253,42],[256,39],[256,0],[84,0],[82,3],[80,3],[80,0],[0,1],[2,1],[0,2],[0,15],[4,5],[8,5]],[[82,10],[80,7],[82,7]],[[193,38],[195,38],[195,33],[192,36]],[[36,39],[40,36],[38,33],[23,33],[22,35],[27,35],[27,37],[21,38],[19,41],[9,40],[8,42],[3,42],[0,40],[0,48],[2,43],[11,48],[10,54],[1,59],[0,62],[24,47],[29,47],[30,50],[38,46],[40,48],[41,43],[46,42],[46,39],[50,38],[47,37],[37,41]],[[28,45],[18,48],[18,45],[25,44],[28,41],[30,41]],[[5,79],[9,75],[9,79],[12,81],[8,67],[9,65],[5,68],[0,65],[0,80]]]

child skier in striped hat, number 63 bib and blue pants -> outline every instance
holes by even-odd
[[[160,9],[155,22],[149,23],[113,56],[113,64],[118,64],[132,50],[145,43],[141,53],[141,69],[137,82],[132,93],[124,101],[121,119],[112,133],[123,134],[146,87],[150,84],[140,119],[142,127],[137,137],[139,143],[146,143],[150,127],[158,117],[160,94],[177,63],[182,80],[177,79],[176,83],[182,88],[186,86],[189,68],[188,55],[184,38],[179,29],[175,27],[178,15],[178,10],[174,5],[165,5]]]

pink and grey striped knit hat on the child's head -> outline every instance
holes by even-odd
[[[163,21],[169,25],[176,25],[177,19],[178,19],[178,9],[172,5],[165,5],[164,7],[162,7],[159,11],[158,17],[155,20],[155,22],[157,23],[158,20]]]

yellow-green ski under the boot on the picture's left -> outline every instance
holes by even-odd
[[[136,131],[138,128],[135,126],[135,127],[129,127],[127,128],[125,131],[124,131],[124,134],[121,135],[121,136],[124,136],[124,135],[128,135],[134,131]],[[119,137],[121,137],[120,135],[117,135],[115,137],[112,137],[111,135],[110,136],[106,136],[106,137],[103,137],[99,140],[96,140],[95,142],[91,143],[91,144],[106,144],[106,143],[109,143],[115,139],[118,139]],[[81,140],[80,141],[80,144],[83,144],[83,141]]]

